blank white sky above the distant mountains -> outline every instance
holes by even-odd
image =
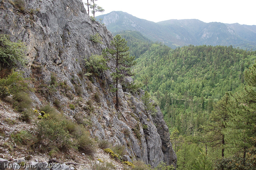
[[[256,25],[256,0],[97,0],[95,3],[105,10],[95,16],[123,11],[153,22],[199,19],[207,23]]]

